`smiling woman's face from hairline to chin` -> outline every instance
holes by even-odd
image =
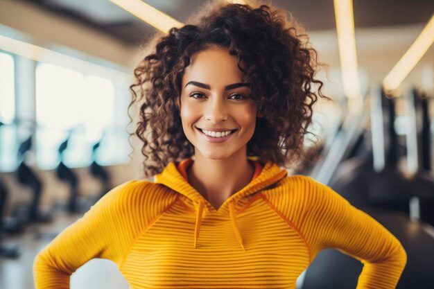
[[[241,80],[236,58],[227,49],[212,48],[193,55],[182,78],[177,98],[182,128],[195,147],[195,154],[225,159],[234,154],[247,156],[257,117],[257,103]],[[203,130],[230,131],[226,137],[207,136]],[[220,136],[223,132],[220,132]]]

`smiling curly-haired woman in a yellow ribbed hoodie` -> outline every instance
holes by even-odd
[[[214,2],[188,23],[150,42],[134,71],[155,181],[117,186],[64,229],[35,259],[36,288],[69,288],[93,258],[114,261],[134,289],[295,288],[332,247],[365,264],[358,289],[395,288],[399,240],[281,168],[306,159],[312,106],[327,98],[306,37],[269,6]]]

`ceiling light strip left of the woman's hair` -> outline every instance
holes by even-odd
[[[164,33],[168,33],[172,27],[184,25],[141,0],[110,1]]]

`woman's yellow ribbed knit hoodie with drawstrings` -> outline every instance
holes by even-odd
[[[357,289],[395,288],[406,252],[387,229],[311,177],[253,162],[218,209],[187,182],[188,159],[116,186],[37,254],[36,289],[69,288],[93,258],[114,261],[132,289],[295,288],[331,247],[364,264]]]

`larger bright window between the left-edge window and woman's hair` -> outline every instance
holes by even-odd
[[[128,92],[125,87],[125,92]],[[122,95],[121,95],[122,96]],[[119,98],[119,97],[118,97]],[[112,80],[85,75],[53,64],[38,64],[36,69],[36,161],[42,169],[53,169],[60,161],[58,148],[69,137],[64,163],[89,166],[94,160],[92,147],[101,146],[96,161],[102,165],[128,161],[126,125],[115,117],[115,107],[127,119],[126,98],[115,99]],[[126,107],[126,106],[125,106]]]

